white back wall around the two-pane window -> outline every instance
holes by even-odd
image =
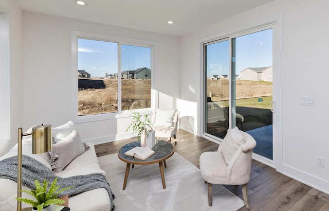
[[[71,118],[71,33],[82,31],[157,43],[155,88],[160,108],[179,99],[179,38],[63,17],[23,12],[23,125],[65,124]],[[76,87],[78,89],[78,87]],[[76,108],[77,109],[77,108]],[[151,114],[151,112],[149,112]],[[73,119],[72,119],[73,120]],[[95,144],[131,137],[131,118],[76,124],[83,140]],[[75,122],[77,123],[77,122]],[[23,130],[25,131],[25,130]]]

